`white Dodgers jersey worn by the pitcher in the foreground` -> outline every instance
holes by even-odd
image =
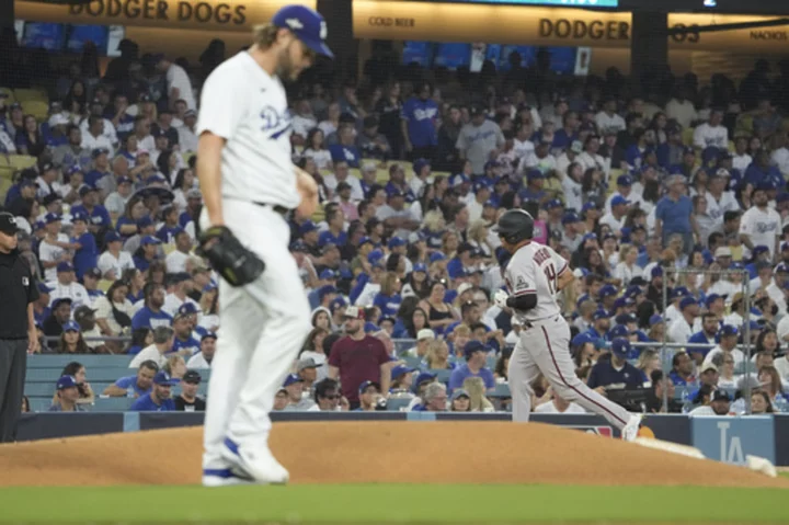
[[[206,79],[197,135],[210,132],[227,139],[221,153],[224,197],[297,207],[291,130],[282,82],[249,53],[224,61]]]

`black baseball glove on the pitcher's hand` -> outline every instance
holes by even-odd
[[[210,261],[214,270],[231,286],[244,286],[260,277],[265,270],[265,263],[224,226],[213,226],[202,231],[199,243],[197,254]]]

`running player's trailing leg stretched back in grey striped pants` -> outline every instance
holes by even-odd
[[[521,344],[548,379],[553,390],[568,401],[574,401],[587,412],[604,416],[621,430],[630,419],[622,407],[609,401],[586,386],[575,375],[575,364],[570,356],[570,327],[561,317],[533,321],[530,328],[521,332]]]

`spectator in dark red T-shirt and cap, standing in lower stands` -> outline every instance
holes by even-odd
[[[391,367],[397,362],[386,351],[384,343],[364,331],[364,310],[350,306],[345,309],[345,333],[331,349],[329,377],[340,378],[342,392],[351,403],[351,410],[359,407],[358,387],[374,381],[381,391],[389,391]]]

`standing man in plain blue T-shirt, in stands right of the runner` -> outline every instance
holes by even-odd
[[[655,208],[655,237],[666,246],[668,238],[678,233],[683,236],[683,250],[690,253],[694,237],[698,237],[698,225],[693,215],[693,202],[686,195],[687,180],[683,175],[671,175],[667,185],[668,194],[658,201]]]

